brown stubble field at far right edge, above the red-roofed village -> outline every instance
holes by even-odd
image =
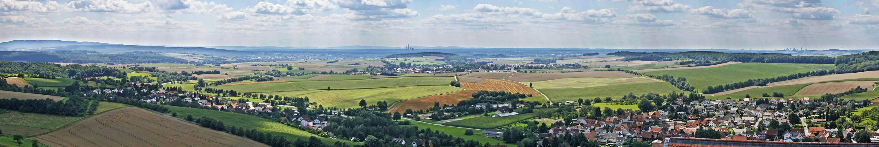
[[[838,94],[851,90],[852,88],[869,88],[873,89],[875,82],[831,82],[817,83],[807,86],[800,90],[796,95],[825,95]]]

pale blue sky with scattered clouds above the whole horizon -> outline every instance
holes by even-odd
[[[879,0],[0,0],[0,34],[126,45],[879,49]]]

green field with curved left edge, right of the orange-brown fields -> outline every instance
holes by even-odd
[[[547,95],[547,97],[549,97],[549,100],[552,100],[553,102],[576,102],[579,98],[592,99],[595,97],[604,98],[607,96],[610,96],[614,99],[619,99],[623,95],[628,95],[629,92],[632,92],[635,95],[644,95],[648,93],[662,95],[671,93],[672,91],[683,91],[675,88],[674,86],[672,86],[672,84],[668,82],[619,84],[593,88],[538,88],[537,90],[540,90],[543,95]]]

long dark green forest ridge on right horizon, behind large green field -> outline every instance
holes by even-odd
[[[782,53],[727,53],[727,52],[613,52],[617,56],[626,57],[622,60],[654,60],[668,61],[675,59],[697,59],[716,61],[737,62],[766,62],[766,63],[815,63],[833,64],[834,59],[827,56],[792,56]]]

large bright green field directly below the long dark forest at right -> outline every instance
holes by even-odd
[[[818,69],[832,69],[831,64],[792,64],[792,63],[739,63],[726,66],[680,69],[647,72],[645,74],[660,76],[663,74],[684,77],[697,90],[731,84],[749,79],[774,78],[792,73],[806,73]]]

